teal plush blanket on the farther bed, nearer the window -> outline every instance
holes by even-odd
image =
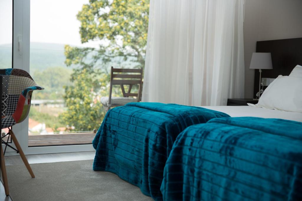
[[[163,169],[173,143],[186,127],[229,117],[201,107],[129,103],[109,110],[93,146],[93,170],[110,171],[161,200]]]

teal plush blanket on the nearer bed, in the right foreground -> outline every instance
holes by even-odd
[[[302,123],[216,118],[185,129],[164,169],[164,200],[302,200]]]

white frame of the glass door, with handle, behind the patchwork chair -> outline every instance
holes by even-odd
[[[30,0],[14,0],[13,24],[13,68],[23,69],[30,73]],[[20,51],[18,50],[18,37],[19,41],[21,39],[22,42],[22,53],[20,53]],[[28,117],[20,124],[14,125],[13,131],[25,154],[83,152],[95,150],[92,144],[28,147]],[[5,155],[18,155],[18,153],[16,153],[16,151],[14,151],[13,149],[7,147]]]

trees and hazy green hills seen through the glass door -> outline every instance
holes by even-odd
[[[30,118],[54,131],[65,126],[69,131],[97,129],[105,115],[100,97],[108,96],[110,67],[145,64],[149,0],[89,0],[76,17],[82,43],[99,41],[98,48],[31,43],[30,73],[45,88],[35,91],[33,99],[63,98],[66,108],[33,107]],[[10,49],[0,49],[0,55],[6,55],[0,68],[10,68],[9,54]],[[121,96],[119,87],[113,96]]]

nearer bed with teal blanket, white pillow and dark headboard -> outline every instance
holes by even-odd
[[[302,38],[257,42],[257,51],[271,52],[264,77],[275,80],[256,105],[204,107],[231,118],[178,135],[163,200],[302,200]]]

